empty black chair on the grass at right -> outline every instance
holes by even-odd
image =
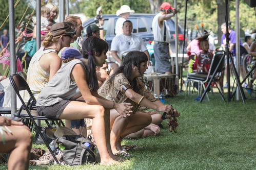
[[[213,59],[211,61],[211,65],[210,65],[210,69],[208,71],[207,74],[204,73],[198,73],[198,72],[192,72],[190,74],[188,74],[187,76],[187,87],[186,87],[186,96],[187,96],[187,91],[188,91],[188,87],[189,87],[189,95],[190,95],[190,84],[191,82],[198,82],[199,86],[203,87],[204,90],[207,90],[205,88],[205,83],[209,82],[209,80],[213,77],[212,81],[214,82],[214,84],[216,85],[216,87],[218,88],[219,92],[222,95],[222,98],[225,100],[224,95],[223,95],[223,91],[218,87],[218,84],[216,82],[218,82],[220,80],[221,77],[221,72],[223,71],[224,67],[225,67],[225,60],[222,59],[222,56],[224,55],[225,51],[216,51]],[[220,60],[222,59],[222,61],[220,62]],[[220,64],[219,64],[220,62]],[[219,66],[218,66],[219,64]],[[215,71],[216,70],[216,71]],[[215,71],[215,74],[213,75]],[[209,97],[208,94],[206,93],[206,98],[209,101]]]

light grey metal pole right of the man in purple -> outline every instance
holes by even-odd
[[[237,71],[240,75],[240,21],[239,21],[239,0],[235,0],[235,54],[237,57]],[[237,86],[237,101],[239,100],[239,90]]]

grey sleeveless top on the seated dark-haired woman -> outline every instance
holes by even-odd
[[[78,59],[63,64],[40,92],[36,106],[52,106],[62,100],[75,100],[82,96],[76,83],[70,78],[71,70],[76,64],[82,64],[86,69],[83,62]]]

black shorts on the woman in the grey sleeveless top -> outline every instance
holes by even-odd
[[[71,101],[62,100],[52,106],[36,106],[37,113],[51,119],[57,119]]]

